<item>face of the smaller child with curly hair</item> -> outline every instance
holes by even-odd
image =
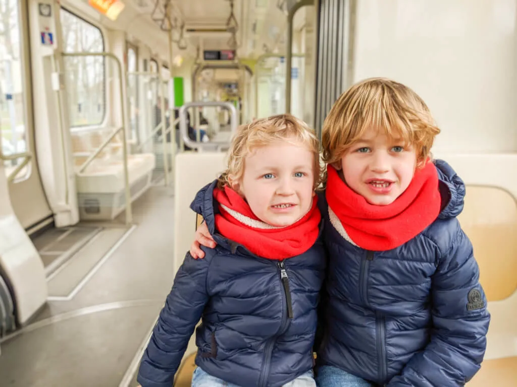
[[[263,222],[286,227],[305,215],[314,196],[314,156],[302,144],[276,143],[246,157],[234,189]]]

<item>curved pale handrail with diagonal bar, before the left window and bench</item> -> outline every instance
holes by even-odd
[[[117,58],[116,55],[108,52],[102,52],[102,53],[62,53],[64,57],[73,57],[73,56],[99,56],[99,57],[110,57],[115,60],[117,71],[120,76],[120,82],[119,82],[119,96],[120,96],[120,109],[121,109],[121,119],[122,119],[122,126],[119,127],[116,131],[114,131],[110,136],[110,141],[115,137],[115,135],[122,131],[122,152],[123,152],[123,165],[124,165],[124,184],[125,184],[125,197],[126,197],[126,224],[133,222],[133,214],[132,214],[132,208],[131,208],[131,192],[129,191],[129,168],[128,168],[128,144],[127,144],[127,138],[126,138],[126,108],[124,104],[124,85],[123,85],[123,67],[122,63],[120,62],[120,59]],[[106,147],[109,141],[104,141],[103,146],[101,149],[97,149],[96,152],[94,152],[94,155],[97,156],[102,148]],[[95,157],[92,158],[92,160]],[[88,159],[86,162],[88,162]],[[84,164],[86,164],[86,162]],[[91,161],[89,161],[91,163]],[[88,165],[89,165],[88,163]],[[84,164],[81,167],[84,167]],[[86,167],[88,166],[86,165]],[[84,167],[84,168],[86,168]],[[82,170],[84,170],[84,168]],[[81,173],[81,170],[80,170]]]

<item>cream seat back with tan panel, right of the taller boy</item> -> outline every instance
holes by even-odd
[[[466,185],[458,217],[474,246],[480,281],[489,301],[517,290],[517,154],[438,155]]]

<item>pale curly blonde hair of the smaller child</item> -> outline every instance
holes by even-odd
[[[314,188],[322,182],[320,142],[314,131],[303,121],[288,114],[255,120],[241,125],[232,138],[226,170],[219,177],[218,187],[232,186],[244,173],[246,157],[258,147],[278,142],[306,146],[314,155]]]

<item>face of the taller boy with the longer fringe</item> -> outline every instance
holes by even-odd
[[[414,147],[369,128],[341,158],[345,183],[370,204],[393,203],[413,179]]]

